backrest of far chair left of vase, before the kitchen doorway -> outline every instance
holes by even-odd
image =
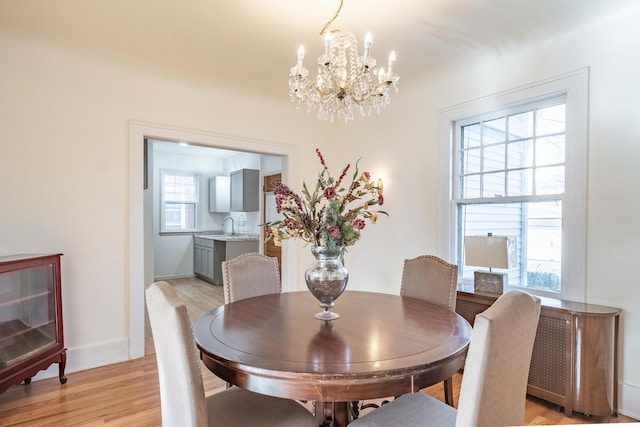
[[[282,292],[278,259],[246,253],[222,262],[224,303]]]

